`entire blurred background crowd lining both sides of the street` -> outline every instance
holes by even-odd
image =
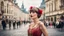
[[[57,21],[45,20],[43,22],[46,27],[53,26],[54,28],[59,28],[59,29],[64,28],[64,16],[61,16],[60,19],[57,19]],[[24,21],[19,21],[19,20],[18,21],[11,21],[8,19],[3,19],[1,21],[3,30],[5,30],[7,28],[7,24],[9,26],[9,29],[11,29],[11,27],[13,27],[13,29],[16,29],[16,27],[19,28],[22,23],[27,24],[27,23],[30,23],[30,21],[25,21],[25,20]]]

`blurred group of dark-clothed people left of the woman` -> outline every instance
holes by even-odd
[[[12,26],[13,26],[13,29],[16,29],[16,26],[17,26],[17,28],[20,27],[21,21],[11,21],[11,20],[8,20],[8,19],[3,19],[1,24],[2,24],[3,30],[6,30],[7,24],[9,26],[9,29],[11,29]]]

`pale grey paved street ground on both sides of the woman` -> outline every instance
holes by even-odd
[[[0,36],[28,36],[27,29],[29,24],[22,24],[18,29],[11,29],[11,30],[0,30]],[[59,31],[58,29],[54,28],[47,28],[49,36],[64,36],[64,31]]]

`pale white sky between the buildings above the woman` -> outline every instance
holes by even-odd
[[[42,0],[16,0],[18,6],[21,8],[22,2],[24,3],[24,7],[28,10],[30,6],[39,7]]]

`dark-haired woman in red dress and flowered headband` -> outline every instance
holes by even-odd
[[[29,11],[32,22],[29,25],[28,36],[41,36],[42,33],[44,36],[48,36],[46,27],[38,19],[42,15],[42,10],[31,6]]]

